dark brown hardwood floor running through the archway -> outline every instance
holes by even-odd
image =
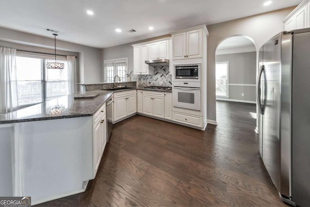
[[[205,131],[140,115],[114,125],[83,193],[38,206],[286,206],[258,153],[254,104],[217,101]]]

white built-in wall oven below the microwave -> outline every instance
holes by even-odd
[[[173,81],[173,107],[201,111],[200,82]]]

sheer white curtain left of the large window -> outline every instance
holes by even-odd
[[[17,109],[16,49],[0,48],[0,113]]]

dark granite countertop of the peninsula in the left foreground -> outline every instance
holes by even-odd
[[[75,96],[99,96],[74,99]],[[11,113],[0,115],[0,124],[92,116],[113,94],[112,91],[80,92],[46,101]],[[56,112],[55,112],[56,111]]]

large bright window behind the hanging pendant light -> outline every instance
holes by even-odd
[[[17,94],[19,107],[29,106],[68,94],[67,61],[59,59],[64,69],[48,69],[52,59],[16,55]]]

